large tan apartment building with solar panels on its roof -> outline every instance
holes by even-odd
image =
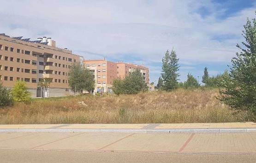
[[[45,96],[37,82],[51,78],[49,97],[71,93],[68,87],[68,72],[72,64],[83,58],[71,50],[56,47],[51,38],[36,41],[0,34],[0,81],[12,88],[15,82],[24,81],[33,97]]]

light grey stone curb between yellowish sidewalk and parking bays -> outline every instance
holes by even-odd
[[[132,134],[179,134],[179,133],[255,133],[256,128],[215,129],[0,129],[0,133],[132,133]]]

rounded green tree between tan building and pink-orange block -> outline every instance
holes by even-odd
[[[90,92],[95,86],[94,75],[87,67],[80,63],[71,66],[68,80],[72,90],[76,90],[79,93],[83,93],[83,91]]]

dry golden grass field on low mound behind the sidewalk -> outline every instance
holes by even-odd
[[[122,96],[35,99],[0,109],[0,124],[31,123],[188,123],[252,121],[214,98],[216,90],[149,92]],[[84,101],[87,106],[81,106]]]

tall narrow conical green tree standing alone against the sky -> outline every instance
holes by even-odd
[[[179,58],[177,58],[176,52],[169,50],[165,53],[162,59],[162,73],[163,78],[163,88],[166,91],[170,91],[179,87],[178,77],[179,77]]]

